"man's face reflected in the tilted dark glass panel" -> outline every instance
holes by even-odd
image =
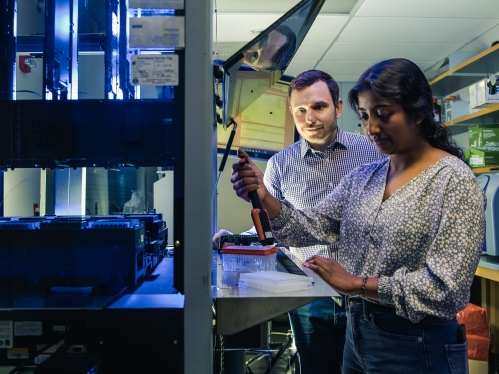
[[[244,52],[243,62],[260,70],[268,69],[272,66],[274,55],[286,43],[286,36],[276,30],[271,31],[267,38]]]

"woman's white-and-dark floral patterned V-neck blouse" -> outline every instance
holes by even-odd
[[[485,235],[484,195],[457,157],[437,161],[383,202],[389,159],[354,169],[312,209],[281,202],[276,238],[291,246],[338,240],[351,274],[378,277],[381,304],[413,322],[454,318],[469,301]]]

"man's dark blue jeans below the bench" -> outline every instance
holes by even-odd
[[[289,312],[301,374],[340,374],[345,308],[326,297]]]

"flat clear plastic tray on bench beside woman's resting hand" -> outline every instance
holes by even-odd
[[[279,271],[243,273],[239,278],[239,286],[270,292],[304,291],[312,289],[313,278]]]

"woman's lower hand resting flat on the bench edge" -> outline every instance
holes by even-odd
[[[303,266],[312,269],[324,282],[343,295],[359,295],[362,278],[348,273],[332,258],[312,256]]]

